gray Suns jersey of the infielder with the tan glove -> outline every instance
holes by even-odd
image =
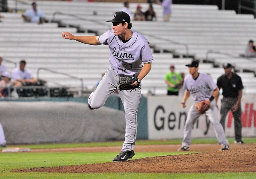
[[[198,103],[209,99],[212,96],[213,90],[215,90],[217,85],[214,83],[210,75],[200,73],[198,78],[194,80],[192,75],[188,75],[184,79],[185,90],[190,92],[193,100]]]

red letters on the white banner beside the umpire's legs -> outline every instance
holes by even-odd
[[[254,119],[254,127],[256,127],[256,111],[253,110],[253,105],[254,105],[253,103],[250,103],[250,107],[249,107],[249,103],[246,103],[244,105],[244,112],[241,113],[242,127],[252,127],[252,119]],[[230,128],[232,125],[232,119],[233,119],[233,114],[231,111],[229,111],[228,124],[227,124],[228,128]]]

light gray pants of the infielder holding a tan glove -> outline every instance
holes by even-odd
[[[223,145],[229,145],[228,140],[226,139],[223,127],[218,121],[218,109],[216,107],[214,100],[211,102],[211,106],[206,111],[205,114],[213,124],[214,131],[218,139],[218,143]],[[188,117],[184,126],[184,138],[182,141],[183,146],[190,147],[192,127],[199,116],[200,116],[200,113],[198,113],[198,111],[195,108],[195,105],[193,104],[188,111]]]

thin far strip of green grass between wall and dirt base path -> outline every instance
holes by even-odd
[[[230,143],[234,143],[234,138],[227,138]],[[256,143],[256,137],[244,137],[245,143]],[[182,139],[172,140],[138,140],[136,145],[169,145],[181,144]],[[89,142],[89,143],[47,143],[47,144],[24,144],[24,145],[8,145],[8,147],[28,147],[30,149],[55,149],[55,148],[73,148],[73,147],[103,147],[103,146],[120,146],[123,141],[110,142]],[[192,144],[202,143],[218,143],[216,138],[193,138]]]

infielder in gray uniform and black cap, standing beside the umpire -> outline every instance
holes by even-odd
[[[188,66],[190,75],[186,76],[184,79],[183,88],[185,93],[181,105],[182,107],[186,107],[186,101],[190,94],[192,95],[195,103],[208,100],[208,103],[210,103],[210,108],[206,111],[206,115],[213,124],[218,143],[222,144],[220,150],[228,150],[228,140],[225,137],[222,125],[218,121],[216,96],[219,93],[219,89],[209,75],[198,73],[198,61],[193,60],[186,66]],[[214,98],[215,100],[213,100]],[[178,151],[187,151],[190,149],[192,127],[195,121],[201,115],[196,110],[195,103],[190,107],[188,111],[188,117],[184,126],[184,138],[182,141],[182,146],[178,149]]]

